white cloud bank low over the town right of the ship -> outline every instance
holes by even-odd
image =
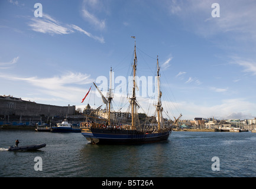
[[[193,100],[171,102],[169,98],[168,100],[162,99],[162,105],[164,111],[168,111],[173,116],[182,113],[182,119],[212,118],[212,116],[217,119],[253,119],[256,116],[256,103],[242,98],[223,99],[219,100],[218,103],[203,102],[203,100],[199,102],[193,102]]]

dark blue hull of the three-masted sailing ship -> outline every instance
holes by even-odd
[[[132,130],[115,130],[99,128],[82,128],[82,135],[88,141],[95,144],[142,144],[150,142],[166,142],[171,134],[171,130],[142,133]]]

